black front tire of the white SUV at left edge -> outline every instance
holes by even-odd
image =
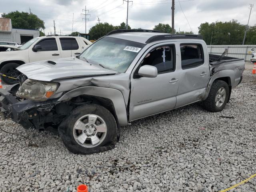
[[[20,65],[17,63],[7,63],[4,66],[2,66],[0,71],[2,74],[6,75],[6,76],[17,78],[20,75],[20,72],[16,69],[18,66],[20,66]],[[16,84],[19,82],[16,79],[4,77],[4,76],[1,76],[1,79],[5,83],[10,84],[10,85]]]

